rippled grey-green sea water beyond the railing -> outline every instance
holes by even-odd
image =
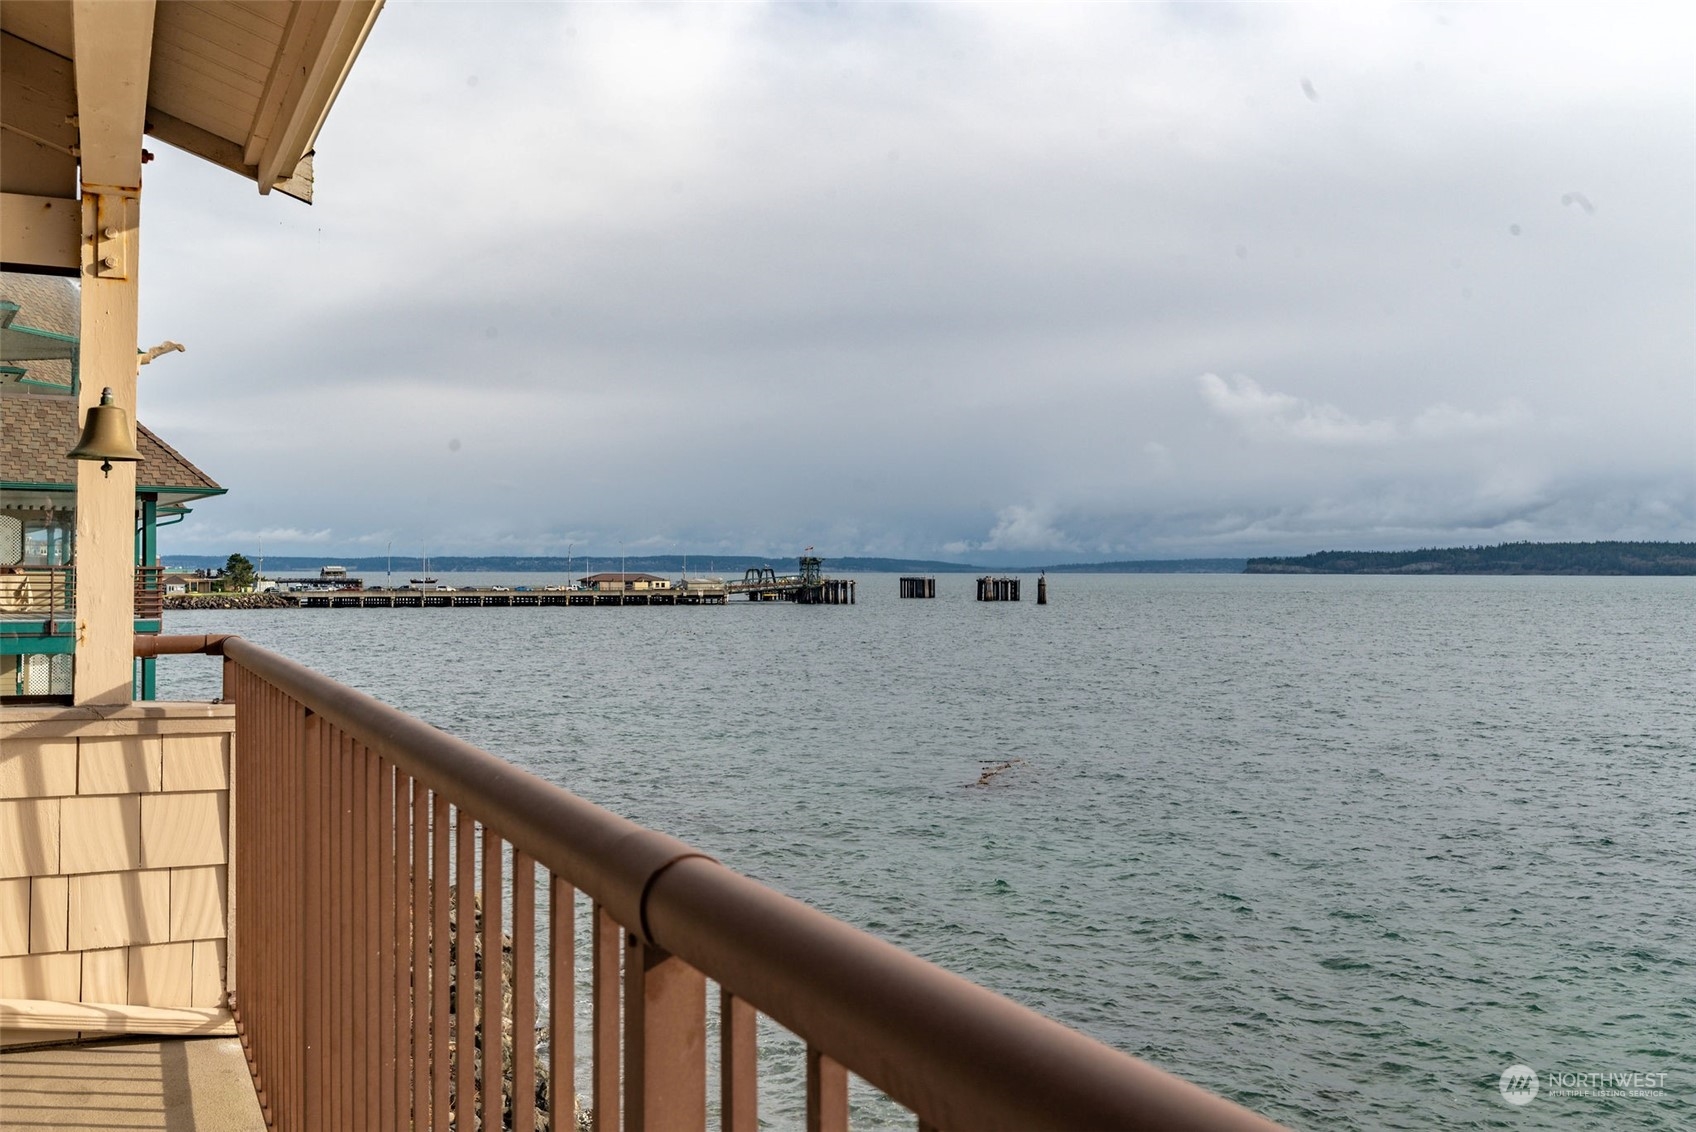
[[[1696,1127],[1696,582],[1050,584],[166,630],[239,631],[1294,1127]],[[159,689],[215,696],[215,665]],[[1664,1095],[1516,1108],[1515,1062]]]

